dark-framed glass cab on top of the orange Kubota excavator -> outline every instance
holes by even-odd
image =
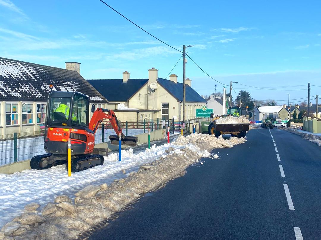
[[[78,92],[50,92],[47,124],[78,129],[88,128],[89,100]]]

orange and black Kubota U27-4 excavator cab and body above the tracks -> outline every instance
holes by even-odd
[[[70,138],[72,155],[86,154],[94,145],[89,129],[89,99],[78,92],[50,92],[44,148],[52,154],[67,154]]]

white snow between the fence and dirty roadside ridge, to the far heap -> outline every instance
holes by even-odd
[[[129,172],[137,171],[141,165],[151,163],[160,156],[166,157],[165,150],[169,147],[177,150],[188,148],[198,156],[209,157],[211,155],[206,150],[200,151],[200,148],[233,147],[244,141],[235,137],[225,140],[221,136],[216,138],[214,135],[197,133],[186,138],[179,135],[176,141],[170,144],[158,147],[153,145],[151,149],[147,148],[145,151],[133,153],[131,148],[122,150],[121,162],[118,161],[117,153],[110,154],[105,157],[103,166],[72,173],[71,177],[67,176],[65,164],[42,171],[24,170],[9,175],[0,174],[0,226],[23,213],[26,204],[35,202],[43,207],[48,202],[53,202],[56,196],[67,195],[73,199],[74,193],[89,184],[110,184],[116,179],[124,178]],[[191,160],[196,162],[196,159]],[[125,174],[123,170],[126,171]]]

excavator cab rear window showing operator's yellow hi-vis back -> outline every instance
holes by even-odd
[[[53,122],[66,123],[69,119],[71,98],[52,97],[49,105],[49,118]]]

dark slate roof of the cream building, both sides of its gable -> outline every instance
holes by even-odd
[[[96,88],[108,101],[127,101],[136,92],[148,82],[145,79],[128,79],[123,83],[123,79],[92,79],[87,80],[94,88]],[[158,78],[157,82],[164,87],[174,98],[183,101],[183,84],[174,83],[173,81]],[[193,88],[186,85],[186,101],[187,102],[206,102]]]

